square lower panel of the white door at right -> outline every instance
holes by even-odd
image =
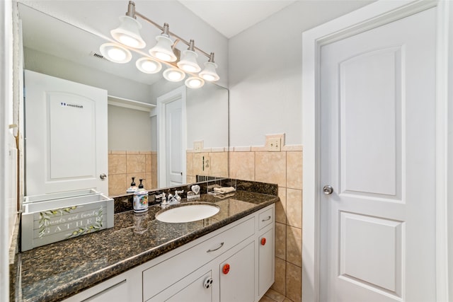
[[[401,296],[403,226],[340,211],[340,277]]]

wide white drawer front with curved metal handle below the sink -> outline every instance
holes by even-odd
[[[183,250],[170,259],[143,271],[143,298],[147,301],[168,286],[175,284],[202,265],[222,255],[255,233],[255,217],[252,216],[200,244]],[[178,278],[176,278],[178,276]]]

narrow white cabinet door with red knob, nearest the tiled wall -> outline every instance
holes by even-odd
[[[261,296],[274,282],[274,229],[258,239],[258,295]]]

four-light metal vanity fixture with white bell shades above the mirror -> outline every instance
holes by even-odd
[[[184,71],[192,74],[200,72],[201,68],[200,65],[198,65],[197,63],[198,57],[197,52],[198,52],[204,54],[205,57],[208,58],[208,61],[205,62],[205,69],[201,71],[199,74],[199,76],[202,79],[197,78],[196,76],[190,77],[189,78],[190,81],[188,79],[189,82],[194,81],[194,85],[191,86],[191,88],[195,88],[195,86],[197,86],[195,85],[195,83],[198,83],[199,87],[201,87],[204,85],[205,81],[219,80],[219,75],[217,74],[216,71],[217,64],[214,63],[214,52],[207,54],[207,52],[204,52],[203,50],[200,50],[200,48],[195,47],[195,42],[193,40],[187,42],[186,40],[184,40],[182,37],[179,37],[175,33],[171,33],[169,30],[168,23],[164,23],[164,26],[162,27],[159,24],[155,23],[154,21],[151,21],[149,18],[142,15],[138,11],[135,11],[135,4],[133,1],[129,1],[126,16],[120,17],[121,21],[120,27],[110,31],[115,40],[129,47],[143,48],[145,46],[145,42],[139,34],[139,30],[142,28],[142,25],[137,21],[137,16],[142,18],[144,21],[147,21],[148,23],[151,23],[152,25],[156,26],[156,28],[162,30],[162,33],[156,36],[157,40],[156,45],[152,47],[151,50],[149,50],[149,54],[151,54],[152,57],[160,60],[161,62],[176,62],[178,60],[178,57],[173,52],[173,50],[179,52],[179,50],[175,48],[176,43],[183,42],[185,45],[188,45],[188,49],[183,51],[180,61],[174,64],[175,65],[174,67],[172,66],[169,69],[166,69],[166,71],[164,71],[165,79],[167,79],[168,81],[182,81],[185,78]],[[175,42],[171,40],[171,37],[174,37],[176,39]],[[145,60],[140,61],[140,64],[144,63],[146,63]],[[137,60],[136,65],[137,68],[140,69],[139,60]],[[142,69],[140,70],[143,71]],[[176,73],[176,71],[178,72]],[[143,72],[149,73],[149,71]]]

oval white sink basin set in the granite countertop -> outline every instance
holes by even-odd
[[[156,219],[171,223],[190,222],[209,218],[219,211],[220,208],[215,204],[187,204],[161,210],[157,212]]]

